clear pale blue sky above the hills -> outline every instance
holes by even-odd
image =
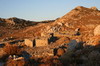
[[[77,6],[100,8],[100,0],[0,0],[0,18],[53,20]]]

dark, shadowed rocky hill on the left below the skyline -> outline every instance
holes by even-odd
[[[8,18],[8,19],[3,19],[0,18],[0,25],[1,26],[9,26],[13,29],[21,29],[27,26],[33,26],[38,24],[38,22],[34,22],[34,21],[27,21],[24,19],[19,19],[16,17],[12,17],[12,18]]]

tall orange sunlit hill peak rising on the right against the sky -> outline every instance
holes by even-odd
[[[78,6],[55,21],[59,23],[69,28],[94,28],[100,24],[100,11],[96,7]]]

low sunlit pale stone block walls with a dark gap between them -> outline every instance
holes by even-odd
[[[33,40],[25,39],[25,45],[29,47],[48,46],[51,42],[55,42],[57,37],[40,37]]]

